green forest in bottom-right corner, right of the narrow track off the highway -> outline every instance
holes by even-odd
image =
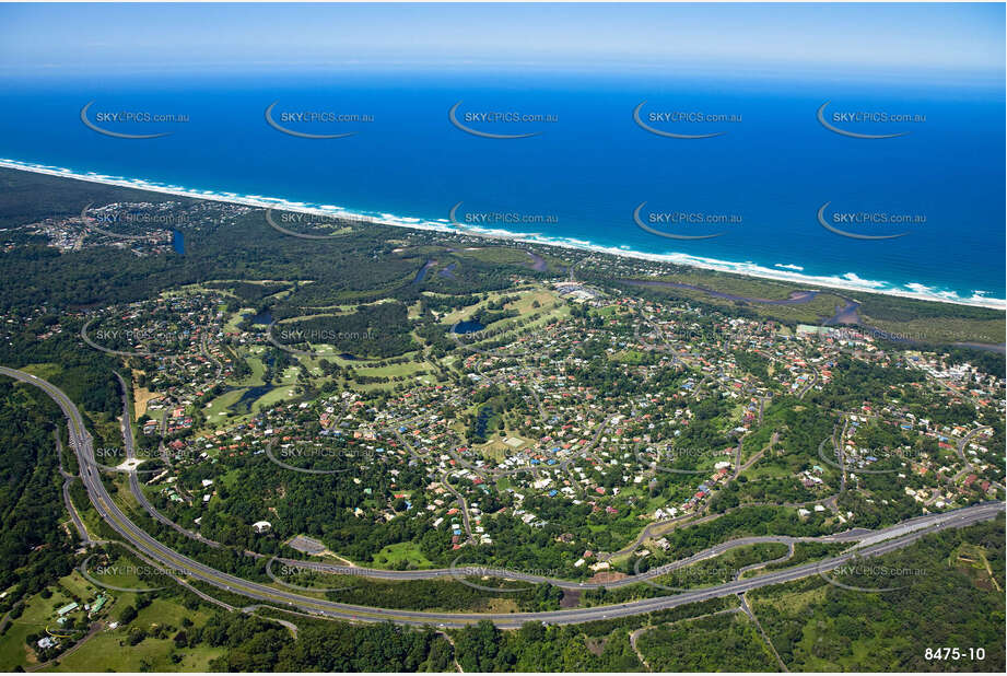
[[[959,558],[963,545],[981,548],[992,575]],[[1004,556],[1000,517],[927,535],[834,575],[865,588],[898,586],[894,592],[856,592],[809,578],[749,597],[794,671],[1003,672]],[[927,660],[924,651],[938,646],[960,648],[967,655],[969,648],[982,648],[985,660]]]

